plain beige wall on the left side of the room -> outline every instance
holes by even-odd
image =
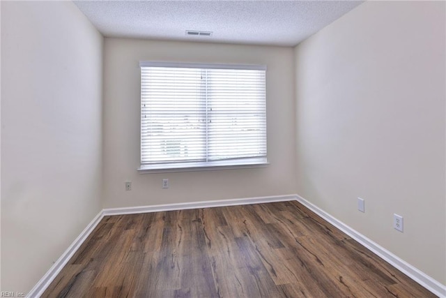
[[[1,290],[28,292],[101,209],[102,36],[72,2],[1,2],[1,105]]]

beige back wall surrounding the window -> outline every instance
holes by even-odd
[[[295,191],[291,47],[105,38],[104,207],[283,195]],[[139,174],[139,61],[266,64],[268,167]],[[169,189],[162,189],[168,178]],[[132,191],[124,182],[132,181]]]

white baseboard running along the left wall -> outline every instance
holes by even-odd
[[[49,268],[43,278],[40,278],[40,281],[34,286],[34,288],[32,288],[31,292],[29,292],[26,297],[40,297],[43,292],[47,290],[49,284],[54,281],[54,278],[56,278],[57,274],[59,274],[62,268],[68,263],[70,258],[76,253],[76,251],[84,243],[86,238],[89,237],[89,234],[93,232],[94,228],[96,228],[96,225],[98,225],[102,217],[104,217],[104,215],[102,214],[102,211],[100,211],[99,214],[95,216],[95,218],[93,218],[93,221],[91,221],[91,223],[86,226],[81,234],[79,234],[75,241],[73,241],[72,244],[68,246],[67,250],[61,255],[61,257],[56,260],[56,262],[54,262],[52,267]]]

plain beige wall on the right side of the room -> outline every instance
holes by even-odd
[[[298,194],[443,284],[445,53],[445,3],[422,1],[367,1],[295,48]]]

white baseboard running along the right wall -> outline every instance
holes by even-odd
[[[431,278],[431,276],[428,276],[424,272],[408,264],[408,262],[397,257],[397,255],[394,255],[390,251],[387,251],[387,249],[376,244],[376,242],[371,241],[371,239],[365,237],[360,232],[353,230],[345,223],[337,220],[337,218],[334,218],[327,212],[308,202],[299,195],[296,195],[296,200],[298,200],[298,202],[313,211],[318,216],[321,216],[321,218],[325,219],[325,221],[328,221],[342,232],[348,234],[348,236],[352,237],[363,246],[369,248],[370,251],[376,253],[376,255],[378,255],[380,258],[388,262],[393,267],[399,269],[399,271],[412,278],[414,281],[422,285],[427,290],[433,292],[433,294],[437,295],[438,297],[446,297],[446,285],[441,284],[440,282]]]

